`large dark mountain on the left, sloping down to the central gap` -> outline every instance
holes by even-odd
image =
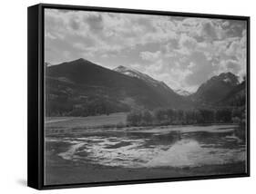
[[[144,73],[131,76],[85,59],[46,66],[46,93],[47,115],[87,116],[184,105],[177,93]]]

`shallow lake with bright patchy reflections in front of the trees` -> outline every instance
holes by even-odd
[[[47,139],[66,142],[58,156],[107,166],[194,167],[245,160],[245,145],[234,126],[113,129]],[[58,148],[56,148],[57,150]]]

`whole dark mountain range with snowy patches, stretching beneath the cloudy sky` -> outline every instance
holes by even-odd
[[[85,59],[56,65],[46,63],[48,116],[87,116],[168,107],[186,109],[198,104],[234,105],[237,101],[234,96],[244,95],[243,90],[232,73],[220,73],[190,94],[173,91],[164,82],[121,65],[110,70]]]

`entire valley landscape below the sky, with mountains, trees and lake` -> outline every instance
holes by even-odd
[[[245,87],[232,73],[189,93],[125,66],[46,66],[45,183],[243,173]]]

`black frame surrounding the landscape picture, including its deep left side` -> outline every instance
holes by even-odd
[[[144,15],[172,15],[200,18],[244,20],[247,22],[247,170],[242,174],[195,176],[169,179],[138,179],[97,183],[44,185],[44,10],[46,8],[85,10]],[[250,17],[236,15],[206,15],[168,11],[105,8],[78,5],[39,4],[27,9],[27,185],[34,189],[65,189],[109,185],[125,185],[195,179],[224,179],[250,176]]]

